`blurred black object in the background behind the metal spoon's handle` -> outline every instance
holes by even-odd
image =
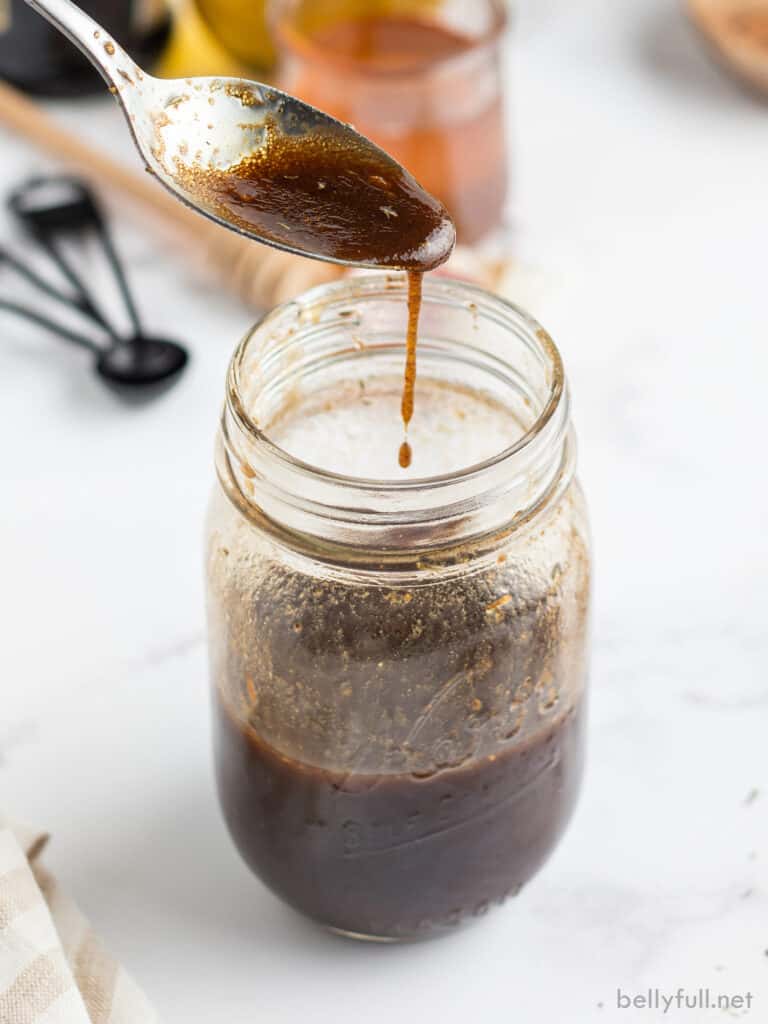
[[[152,69],[170,30],[166,0],[79,0],[134,60]],[[24,0],[0,0],[0,78],[42,96],[83,96],[103,82],[68,39]]]

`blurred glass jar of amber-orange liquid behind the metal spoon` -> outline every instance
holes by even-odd
[[[462,244],[502,221],[500,3],[280,0],[279,84],[348,122],[447,207]]]

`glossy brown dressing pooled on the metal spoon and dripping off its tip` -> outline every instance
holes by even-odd
[[[267,125],[258,148],[234,167],[187,168],[183,188],[221,220],[263,239],[289,241],[333,260],[408,271],[408,335],[401,415],[401,469],[413,459],[416,347],[422,279],[451,255],[447,211],[394,160],[368,143],[317,132],[291,136]]]

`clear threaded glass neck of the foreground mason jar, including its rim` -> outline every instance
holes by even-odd
[[[398,477],[395,452],[391,475],[367,477],[281,446],[278,425],[292,415],[308,418],[317,396],[337,394],[343,402],[350,382],[378,393],[377,382],[401,377],[406,299],[400,274],[321,286],[264,316],[232,357],[219,478],[244,514],[288,543],[382,555],[460,546],[518,528],[572,478],[568,392],[549,335],[511,303],[438,278],[424,282],[417,417],[420,390],[432,389],[434,404],[443,393],[435,389],[444,388],[508,418],[505,430],[516,425],[510,443],[465,466],[465,445],[482,451],[482,438],[458,433],[449,442],[459,468],[408,478]],[[418,469],[418,446],[415,455]]]

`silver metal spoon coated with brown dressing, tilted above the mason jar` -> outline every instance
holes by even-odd
[[[447,259],[456,234],[442,205],[349,125],[257,82],[153,78],[71,0],[27,3],[101,73],[148,170],[187,206],[248,238],[328,262],[428,270]],[[279,152],[275,140],[294,163],[297,143],[312,147],[321,165],[330,154],[331,173],[275,177],[274,167],[253,162]],[[227,172],[249,160],[241,187]]]

